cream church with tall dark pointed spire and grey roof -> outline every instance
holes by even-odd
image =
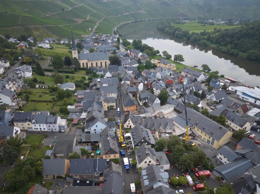
[[[79,60],[81,67],[108,68],[110,61],[108,60],[108,54],[106,51],[78,54],[72,28],[71,28],[71,41],[72,41],[72,57],[73,58],[76,57]]]

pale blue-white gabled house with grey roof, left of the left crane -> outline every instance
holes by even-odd
[[[86,121],[84,131],[85,133],[100,134],[100,132],[107,127],[105,122],[106,121],[101,117],[95,117],[92,121]]]

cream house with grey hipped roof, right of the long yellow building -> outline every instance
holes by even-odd
[[[243,117],[237,115],[236,113],[226,114],[226,125],[232,129],[232,131],[237,131],[239,129],[245,129],[246,131],[250,128],[250,122]]]

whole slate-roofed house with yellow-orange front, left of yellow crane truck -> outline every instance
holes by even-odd
[[[114,132],[105,128],[100,135],[99,149],[103,159],[119,158],[119,149]]]

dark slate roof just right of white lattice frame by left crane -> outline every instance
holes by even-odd
[[[148,129],[141,129],[142,125],[138,125],[138,123],[131,129],[131,135],[133,137],[133,144],[137,144],[140,140],[145,138],[151,144],[155,144],[155,140],[153,139],[153,135]]]

